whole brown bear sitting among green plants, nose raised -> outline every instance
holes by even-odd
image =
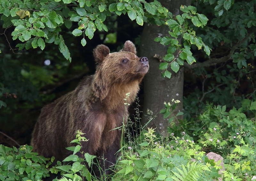
[[[96,61],[94,75],[85,77],[77,88],[44,106],[32,133],[33,151],[44,157],[62,161],[72,154],[76,130],[85,133],[82,151],[96,155],[101,170],[112,173],[120,149],[121,130],[115,129],[127,120],[127,104],[131,104],[139,84],[148,71],[148,59],[138,58],[136,48],[126,41],[119,52],[109,53],[105,45],[93,50]],[[125,101],[125,94],[130,96]],[[102,158],[104,158],[102,161]],[[102,171],[93,170],[97,177]]]

